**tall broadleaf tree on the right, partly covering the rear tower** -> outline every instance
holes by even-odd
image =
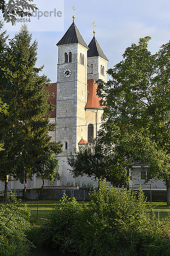
[[[98,81],[105,105],[100,139],[114,141],[133,161],[141,162],[150,178],[163,179],[170,204],[170,41],[152,55],[150,37],[139,39],[108,70],[112,80]],[[131,165],[132,168],[132,165]],[[147,181],[146,180],[146,181]]]

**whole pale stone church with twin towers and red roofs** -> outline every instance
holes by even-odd
[[[74,9],[74,8],[73,8]],[[75,10],[75,9],[74,9]],[[79,148],[79,145],[93,143],[97,137],[101,125],[103,113],[102,106],[99,105],[99,98],[96,95],[98,79],[107,82],[108,58],[102,51],[94,36],[87,45],[80,34],[73,15],[73,23],[57,43],[58,64],[57,83],[52,83],[45,90],[49,94],[53,93],[48,101],[52,102],[56,108],[49,111],[49,122],[56,124],[56,130],[51,132],[51,141],[60,141],[63,144],[62,153],[57,155],[59,159],[59,175],[61,180],[55,180],[51,185],[45,180],[45,186],[96,186],[93,178],[86,176],[73,178],[69,173],[71,168],[67,164],[67,157]],[[143,172],[140,163],[135,163],[133,170],[130,170],[133,180],[130,180],[130,187],[136,189],[142,184],[145,189],[165,190],[162,180],[150,180],[150,184],[145,184],[147,172]],[[34,175],[32,180],[27,180],[27,188],[40,188],[42,179]],[[23,184],[18,181],[10,181],[11,189],[21,189]],[[4,185],[0,184],[0,190]]]

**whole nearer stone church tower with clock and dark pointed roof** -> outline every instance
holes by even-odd
[[[74,18],[73,16],[73,23],[57,43],[56,141],[63,144],[63,152],[59,155],[61,160],[66,160],[65,156],[78,148],[81,138],[86,137],[88,46],[77,29]],[[62,165],[68,173],[66,163],[62,161]]]

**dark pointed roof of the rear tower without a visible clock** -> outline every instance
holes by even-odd
[[[108,58],[105,56],[104,52],[99,46],[99,43],[97,42],[95,36],[92,38],[90,44],[88,45],[88,48],[88,57],[100,56],[108,61]]]

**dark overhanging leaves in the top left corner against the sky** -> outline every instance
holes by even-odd
[[[14,25],[17,15],[19,17],[31,17],[30,11],[35,12],[38,8],[30,2],[33,2],[33,0],[0,0],[0,10],[3,13],[4,20]]]

